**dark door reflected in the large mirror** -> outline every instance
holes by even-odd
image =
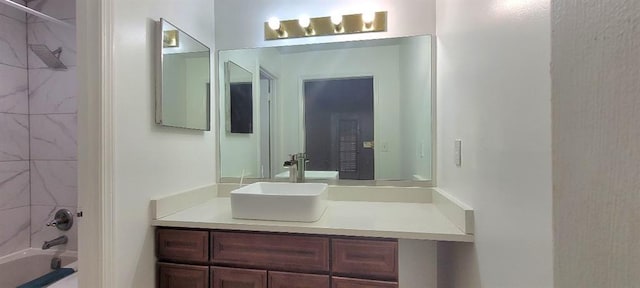
[[[374,179],[373,77],[304,82],[309,171],[339,179]]]

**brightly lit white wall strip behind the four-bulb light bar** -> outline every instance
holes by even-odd
[[[394,38],[435,33],[435,0],[216,0],[216,49],[239,49],[306,43],[325,43],[356,39]],[[362,13],[364,9],[388,11],[388,29],[381,33],[264,40],[264,22],[270,17],[297,19]]]

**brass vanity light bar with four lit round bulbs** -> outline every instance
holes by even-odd
[[[278,40],[312,36],[328,36],[387,31],[387,12],[333,14],[325,17],[301,16],[298,19],[264,22],[264,39]]]

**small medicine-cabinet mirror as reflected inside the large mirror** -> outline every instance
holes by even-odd
[[[253,133],[253,74],[225,62],[226,125],[230,133]]]

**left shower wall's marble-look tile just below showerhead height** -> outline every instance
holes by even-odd
[[[28,114],[27,69],[0,64],[0,112]]]

